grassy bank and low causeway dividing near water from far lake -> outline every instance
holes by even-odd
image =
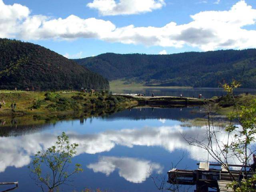
[[[255,95],[240,95],[235,97],[238,106],[248,106]],[[204,106],[211,104],[216,114],[225,116],[232,112],[234,103],[228,96],[211,99],[172,97],[172,96],[130,96],[129,94],[89,94],[82,92],[24,92],[0,91],[0,100],[5,100],[6,106],[0,108],[0,123],[2,126],[39,125],[57,122],[63,119],[90,118],[112,114],[135,106],[148,107],[187,107],[202,106],[201,113],[205,113]],[[16,103],[16,109],[11,104]],[[240,108],[238,108],[239,112]],[[204,120],[194,120],[192,124],[204,123]]]

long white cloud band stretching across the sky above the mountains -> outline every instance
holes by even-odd
[[[92,4],[102,0],[94,0]],[[126,1],[106,0],[115,6]],[[130,1],[129,1],[130,2]],[[136,1],[141,2],[141,1]],[[161,4],[163,1],[151,1]],[[92,5],[90,4],[90,5]],[[126,7],[126,6],[125,6]],[[128,7],[128,6],[127,6]],[[106,9],[109,9],[108,6]],[[114,8],[113,8],[114,10]],[[74,15],[52,19],[42,15],[30,15],[25,6],[5,5],[0,0],[0,37],[24,40],[96,38],[107,42],[143,44],[181,48],[184,45],[202,50],[219,48],[252,48],[256,45],[256,30],[244,27],[255,25],[256,9],[241,0],[228,11],[204,11],[191,16],[192,22],[177,25],[170,22],[163,27],[116,27],[112,22],[96,18],[82,19]]]

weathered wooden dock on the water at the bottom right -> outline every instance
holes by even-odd
[[[211,169],[209,166],[221,166],[220,164],[200,163],[197,170],[172,169],[168,171],[168,182],[178,185],[196,185],[195,192],[209,192],[209,188],[218,192],[232,192],[232,188],[226,188],[232,182],[230,173],[222,167],[220,170]],[[228,165],[243,167],[241,165]],[[249,167],[249,166],[247,166]],[[240,170],[232,170],[232,176],[239,181],[242,178],[251,178],[252,173]]]

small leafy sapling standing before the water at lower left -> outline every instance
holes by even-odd
[[[76,164],[72,172],[68,172],[72,157],[76,154],[78,144],[70,144],[65,132],[57,137],[56,144],[45,151],[37,152],[30,166],[33,179],[36,184],[49,191],[56,191],[60,185],[67,184],[69,178],[79,172],[82,172],[80,164]],[[46,166],[49,172],[46,174],[42,171],[42,166]]]

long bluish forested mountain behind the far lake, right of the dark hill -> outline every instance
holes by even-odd
[[[114,54],[75,60],[108,80],[120,78],[160,86],[218,87],[232,79],[256,88],[256,49],[170,55]]]

